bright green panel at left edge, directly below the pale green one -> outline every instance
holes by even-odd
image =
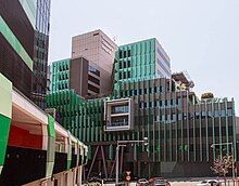
[[[0,114],[0,167],[4,164],[10,125],[11,119]]]

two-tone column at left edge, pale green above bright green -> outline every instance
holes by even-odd
[[[0,74],[0,174],[4,165],[12,121],[12,82]]]

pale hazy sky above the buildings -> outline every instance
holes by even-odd
[[[156,38],[198,96],[232,97],[239,116],[239,0],[52,0],[49,62],[73,36],[103,30],[116,44]]]

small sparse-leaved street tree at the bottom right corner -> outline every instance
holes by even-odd
[[[232,163],[235,163],[234,156],[226,155],[216,158],[213,162],[213,167],[211,167],[214,173],[224,176],[225,185],[226,185],[226,174],[228,173],[229,169],[232,168]]]

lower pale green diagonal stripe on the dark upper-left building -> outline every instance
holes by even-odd
[[[33,64],[34,64],[33,59],[29,57],[23,45],[20,43],[17,38],[9,28],[2,16],[0,16],[0,32],[11,44],[11,46],[15,50],[15,52],[20,55],[20,57],[25,62],[25,64],[29,67],[29,69],[33,71]]]

